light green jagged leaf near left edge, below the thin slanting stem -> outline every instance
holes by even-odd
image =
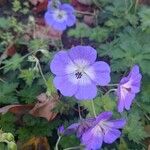
[[[16,69],[20,69],[22,61],[23,57],[21,57],[19,54],[15,54],[12,58],[4,60],[3,64],[5,65],[5,73],[8,71],[15,71]]]

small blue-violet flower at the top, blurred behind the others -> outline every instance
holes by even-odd
[[[67,26],[72,26],[76,22],[74,8],[69,4],[57,4],[53,7],[52,2],[48,4],[48,10],[45,13],[45,22],[56,30],[63,31]]]

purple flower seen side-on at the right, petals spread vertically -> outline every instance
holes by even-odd
[[[140,91],[141,78],[139,67],[135,65],[129,75],[121,79],[117,89],[119,112],[122,112],[124,108],[130,109],[135,94]]]

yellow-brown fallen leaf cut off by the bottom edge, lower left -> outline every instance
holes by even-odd
[[[19,147],[21,150],[50,150],[46,137],[33,137]]]

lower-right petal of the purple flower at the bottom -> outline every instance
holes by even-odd
[[[105,143],[113,143],[121,136],[121,132],[117,129],[109,129],[104,135]]]

